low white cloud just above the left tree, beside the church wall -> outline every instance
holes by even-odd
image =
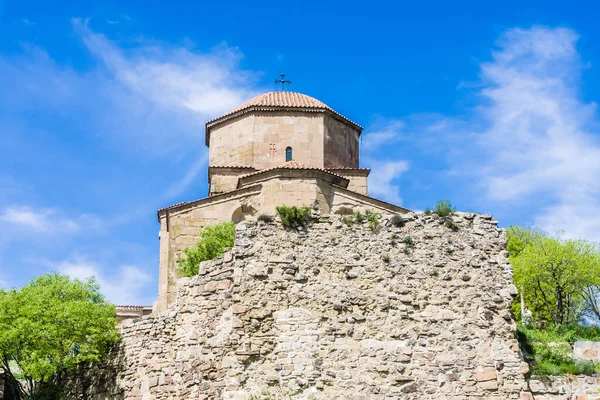
[[[152,305],[155,299],[148,295],[152,277],[146,271],[134,265],[121,266],[115,273],[101,265],[86,260],[74,259],[51,263],[59,273],[72,278],[87,279],[95,277],[100,290],[107,300],[120,305]]]

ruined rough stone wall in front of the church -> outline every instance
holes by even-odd
[[[238,225],[235,248],[126,321],[125,399],[517,399],[506,236],[489,216]],[[104,397],[109,398],[109,397]],[[114,395],[113,395],[114,398]]]

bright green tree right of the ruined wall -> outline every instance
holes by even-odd
[[[535,229],[508,230],[514,281],[537,320],[556,325],[600,318],[600,251],[584,240],[563,240]],[[515,311],[518,306],[515,305]]]

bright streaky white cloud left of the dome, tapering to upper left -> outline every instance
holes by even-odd
[[[75,31],[114,78],[132,92],[167,108],[188,110],[206,120],[257,94],[253,74],[239,68],[241,53],[222,45],[211,53],[193,53],[146,42],[124,51],[86,22]]]

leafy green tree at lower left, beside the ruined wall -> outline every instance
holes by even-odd
[[[0,366],[20,398],[54,398],[67,373],[101,361],[118,342],[116,323],[114,305],[93,278],[39,276],[0,291]]]

